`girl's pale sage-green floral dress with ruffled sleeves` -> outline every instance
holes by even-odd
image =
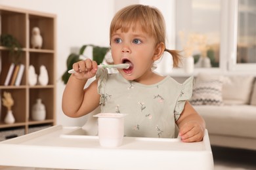
[[[125,113],[128,137],[175,137],[175,121],[192,95],[194,78],[183,84],[166,76],[156,84],[129,81],[102,69],[98,79],[101,112]]]

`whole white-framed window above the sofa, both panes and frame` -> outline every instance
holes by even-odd
[[[176,48],[211,60],[211,69],[256,70],[255,0],[176,1]],[[189,48],[188,48],[189,47]]]

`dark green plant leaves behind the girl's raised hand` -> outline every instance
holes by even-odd
[[[100,47],[100,46],[94,46],[89,44],[89,45],[82,46],[79,50],[79,54],[74,54],[74,53],[70,54],[70,56],[68,56],[68,59],[67,59],[67,70],[62,75],[62,81],[64,82],[64,84],[67,84],[68,78],[70,78],[70,74],[68,73],[68,71],[70,69],[73,69],[72,68],[73,63],[81,60],[81,58],[79,57],[81,55],[84,55],[85,48],[87,48],[87,46],[93,46],[93,56],[91,56],[91,59],[95,60],[98,63],[98,65],[102,63],[104,57],[106,56],[106,53],[108,52],[108,50],[110,50],[110,48],[108,47]]]

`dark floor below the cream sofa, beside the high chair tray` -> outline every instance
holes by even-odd
[[[256,151],[212,146],[214,170],[256,170]],[[0,170],[46,170],[44,168],[6,167]],[[57,169],[47,169],[57,170]],[[60,169],[58,169],[60,170]]]

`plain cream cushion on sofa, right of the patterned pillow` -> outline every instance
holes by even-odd
[[[253,76],[225,76],[223,83],[224,104],[249,104]]]

